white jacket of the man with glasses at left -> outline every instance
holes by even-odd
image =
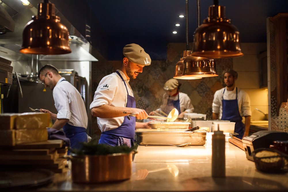
[[[87,129],[88,116],[78,90],[62,77],[53,89],[57,119],[69,119],[68,124]]]

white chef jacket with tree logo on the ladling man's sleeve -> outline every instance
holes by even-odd
[[[124,79],[128,93],[130,96],[133,96],[133,91],[129,85],[129,80],[127,80],[126,75],[117,70],[122,78]],[[126,107],[127,104],[127,90],[124,82],[121,77],[115,72],[110,75],[103,77],[95,91],[94,99],[90,104],[90,110],[94,107],[99,107],[102,105],[110,105],[113,107]],[[122,125],[124,118],[123,117],[114,117],[114,118],[100,118],[97,117],[97,124],[101,132],[113,130]]]

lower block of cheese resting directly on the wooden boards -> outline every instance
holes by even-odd
[[[47,140],[48,132],[46,128],[0,130],[0,145],[2,146],[15,146]]]

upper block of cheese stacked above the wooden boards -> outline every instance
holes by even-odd
[[[0,130],[39,129],[49,126],[50,114],[36,112],[3,113],[0,115],[0,121]]]

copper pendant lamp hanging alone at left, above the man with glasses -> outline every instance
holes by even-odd
[[[38,5],[37,16],[26,24],[20,49],[24,54],[58,55],[71,53],[68,30],[55,16],[55,5],[47,0]]]

